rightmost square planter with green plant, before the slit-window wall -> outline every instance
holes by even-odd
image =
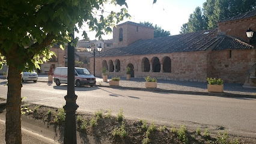
[[[207,77],[207,82],[208,92],[224,92],[224,85],[222,79],[216,80],[215,78],[213,79],[212,77]]]

